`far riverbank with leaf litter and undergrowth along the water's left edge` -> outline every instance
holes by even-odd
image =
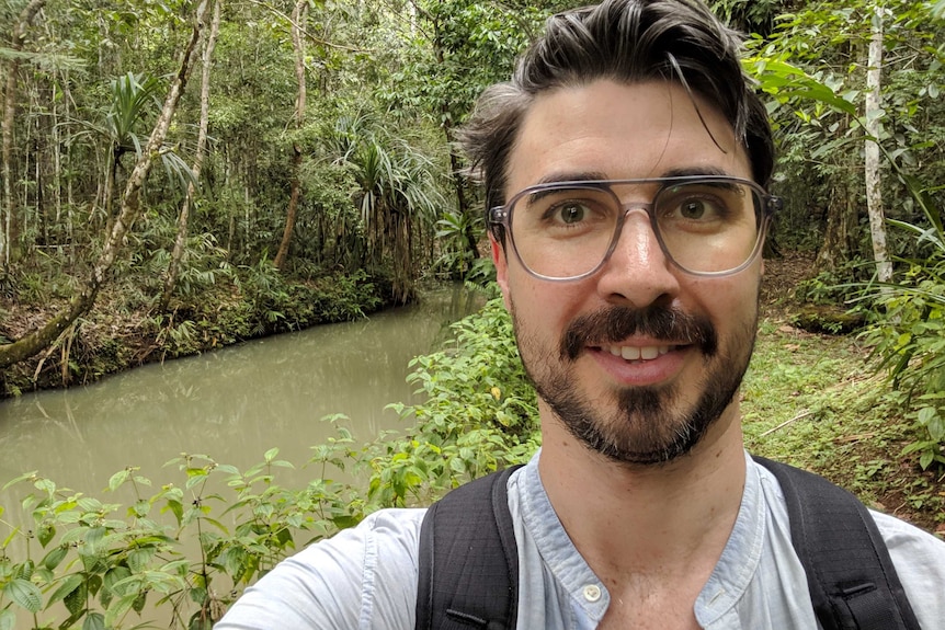
[[[272,334],[351,321],[390,306],[389,280],[364,272],[291,279],[267,268],[207,283],[155,312],[144,283],[116,280],[94,307],[48,348],[0,370],[0,399],[25,391],[89,385],[153,362],[191,356]],[[0,295],[0,343],[42,327],[61,309],[70,287]],[[59,295],[57,295],[57,293]]]

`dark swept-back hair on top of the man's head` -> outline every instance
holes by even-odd
[[[505,202],[509,153],[535,95],[596,79],[660,79],[698,94],[732,126],[755,182],[766,185],[774,141],[740,53],[740,37],[699,0],[605,0],[550,18],[512,80],[482,93],[459,134],[474,171],[485,181],[487,210]]]

